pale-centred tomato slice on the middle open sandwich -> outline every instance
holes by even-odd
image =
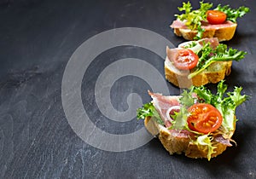
[[[198,59],[198,55],[191,49],[178,49],[174,66],[180,70],[191,70],[197,65]]]

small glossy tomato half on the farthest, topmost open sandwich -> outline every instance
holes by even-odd
[[[226,20],[227,15],[219,10],[208,10],[207,20],[210,24],[222,24]]]

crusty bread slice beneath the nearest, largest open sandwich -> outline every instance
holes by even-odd
[[[198,159],[206,158],[207,159],[207,147],[200,148],[198,145],[192,142],[191,137],[184,136],[175,136],[166,129],[161,124],[157,124],[154,121],[154,118],[147,117],[144,120],[144,124],[149,133],[153,136],[158,136],[162,145],[170,153],[184,153],[187,157]],[[157,134],[156,134],[157,131]],[[213,141],[212,146],[214,148],[214,153],[212,153],[211,158],[218,156],[226,150],[226,145],[218,141]]]

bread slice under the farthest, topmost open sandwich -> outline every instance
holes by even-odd
[[[232,26],[224,26],[216,29],[206,29],[205,32],[203,32],[202,38],[218,38],[219,42],[228,41],[234,37],[234,34],[236,32],[236,26],[237,24],[234,23],[232,24]],[[197,31],[183,28],[174,28],[174,33],[178,37],[183,37],[186,40],[194,40]]]

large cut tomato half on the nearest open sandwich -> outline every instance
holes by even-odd
[[[217,130],[223,118],[218,109],[210,104],[196,103],[188,109],[190,115],[187,119],[189,129],[204,134]]]

